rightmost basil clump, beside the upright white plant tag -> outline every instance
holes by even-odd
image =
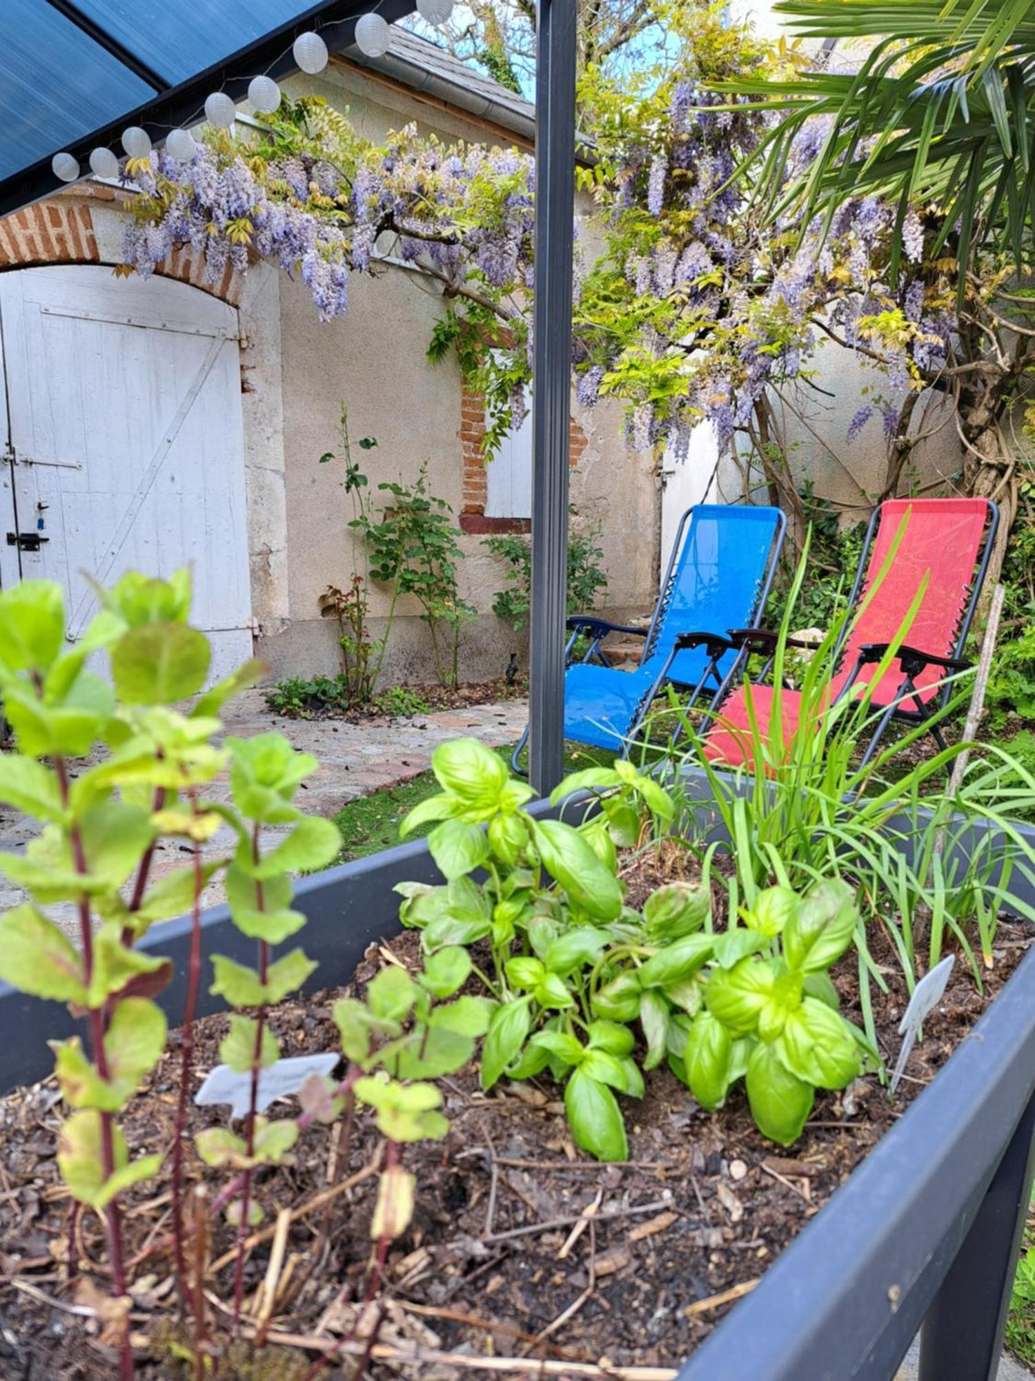
[[[803,896],[766,888],[741,917],[742,928],[713,942],[682,1068],[679,1056],[671,1063],[709,1110],[742,1077],[759,1131],[789,1146],[816,1088],[845,1088],[862,1069],[865,1039],[838,1012],[828,974],[851,945],[858,910],[851,889],[831,880]]]

